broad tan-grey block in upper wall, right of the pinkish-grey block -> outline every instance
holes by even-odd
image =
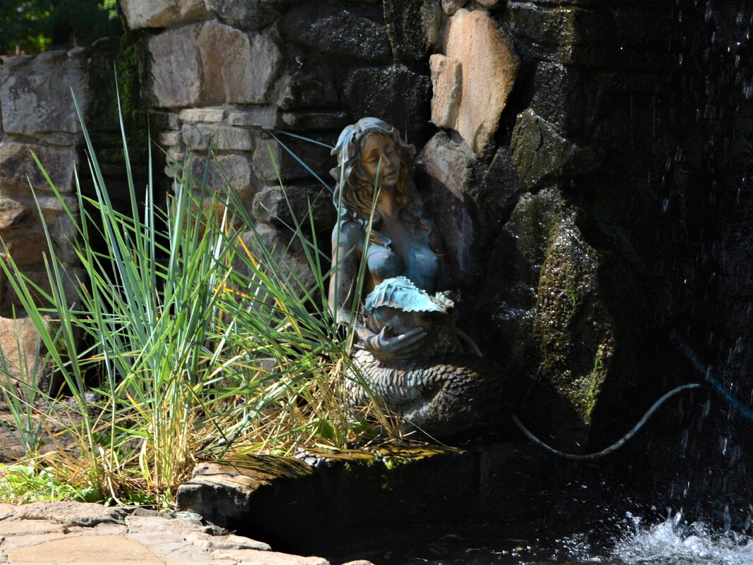
[[[274,41],[209,21],[198,37],[206,100],[210,103],[260,104],[282,62]],[[227,53],[233,53],[228,57]]]

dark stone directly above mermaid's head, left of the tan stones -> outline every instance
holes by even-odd
[[[431,99],[428,76],[404,65],[362,67],[346,77],[344,92],[354,118],[383,119],[417,145],[426,139]]]

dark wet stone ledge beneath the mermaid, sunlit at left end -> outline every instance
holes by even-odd
[[[312,468],[301,458],[319,464]],[[523,444],[306,450],[297,459],[200,463],[177,497],[178,509],[273,547],[335,556],[355,542],[366,554],[383,549],[384,539],[391,547],[414,546],[426,526],[456,532],[469,519],[495,528],[531,519],[550,505],[546,491],[558,482],[553,472],[550,457]],[[291,530],[297,536],[285,535]]]

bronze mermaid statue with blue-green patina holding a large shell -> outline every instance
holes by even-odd
[[[339,218],[329,301],[358,336],[350,404],[376,398],[405,431],[434,438],[507,417],[501,370],[456,328],[441,237],[413,182],[416,148],[395,127],[363,118],[332,153]]]

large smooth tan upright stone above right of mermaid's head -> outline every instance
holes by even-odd
[[[519,57],[489,14],[465,9],[450,20],[445,54],[459,61],[462,69],[462,91],[453,130],[480,154],[498,128],[520,66]],[[445,69],[455,72],[453,66]],[[437,77],[438,81],[453,84],[452,78]],[[446,102],[441,107],[451,105]]]

